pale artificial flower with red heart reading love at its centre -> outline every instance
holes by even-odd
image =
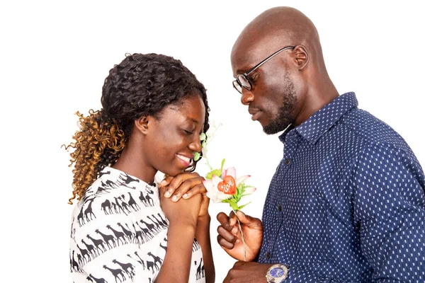
[[[225,160],[222,161],[222,166]],[[220,175],[216,175],[220,170],[213,170],[210,176],[207,175],[207,180],[203,181],[205,188],[207,189],[207,197],[212,202],[225,202],[230,204],[232,209],[242,209],[246,204],[239,207],[238,202],[246,195],[251,195],[255,192],[256,188],[250,185],[245,185],[245,181],[251,177],[251,175],[244,175],[242,177],[236,177],[236,169],[230,167],[222,169]]]

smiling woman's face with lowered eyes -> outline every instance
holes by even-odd
[[[183,172],[195,152],[201,150],[199,135],[204,121],[205,105],[198,95],[164,108],[159,119],[149,116],[145,134],[147,165],[171,176]]]

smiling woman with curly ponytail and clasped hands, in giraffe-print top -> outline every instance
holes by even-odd
[[[172,57],[131,54],[101,103],[77,112],[69,145],[74,282],[213,282],[209,200],[191,173],[209,127],[203,84]],[[157,171],[169,176],[159,189]]]

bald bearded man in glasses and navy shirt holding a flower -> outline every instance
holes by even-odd
[[[224,282],[425,282],[424,172],[393,129],[339,96],[313,23],[271,8],[232,49],[233,85],[266,134],[284,131],[263,219],[237,212],[246,242]],[[217,241],[237,260],[232,213]]]

